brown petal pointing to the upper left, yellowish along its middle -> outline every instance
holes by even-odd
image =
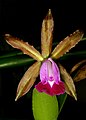
[[[43,60],[43,57],[41,56],[41,54],[33,46],[29,45],[27,42],[24,42],[22,40],[19,40],[18,38],[12,37],[9,34],[5,34],[5,39],[8,44],[10,44],[14,48],[22,50],[24,54],[31,56],[37,61]]]

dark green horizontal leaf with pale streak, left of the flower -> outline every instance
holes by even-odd
[[[34,60],[27,57],[26,55],[16,55],[12,57],[3,56],[0,58],[0,69],[29,65],[33,62]]]

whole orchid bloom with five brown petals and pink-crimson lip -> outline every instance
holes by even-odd
[[[41,52],[37,51],[33,46],[23,40],[12,37],[9,34],[5,35],[5,39],[12,47],[20,49],[24,54],[29,55],[37,60],[22,77],[18,88],[16,99],[25,95],[36,81],[40,74],[40,82],[35,85],[39,92],[45,92],[51,96],[60,95],[67,92],[69,95],[76,97],[75,85],[72,77],[67,73],[66,69],[54,60],[59,59],[62,55],[74,47],[83,37],[83,32],[76,30],[70,36],[67,36],[61,41],[52,51],[54,21],[51,10],[42,23],[41,30]],[[61,77],[60,77],[61,75]],[[64,80],[62,81],[61,78]]]

